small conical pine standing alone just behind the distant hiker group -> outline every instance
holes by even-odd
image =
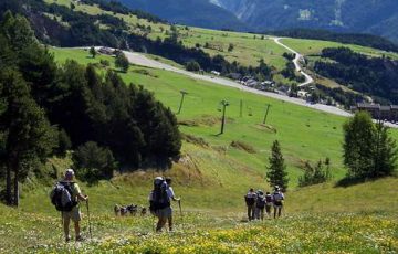
[[[283,155],[281,152],[281,147],[277,140],[273,142],[271,152],[271,157],[269,158],[270,166],[268,168],[269,171],[266,172],[266,180],[272,187],[279,186],[284,191],[286,191],[289,178]]]

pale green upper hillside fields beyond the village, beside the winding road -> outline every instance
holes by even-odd
[[[63,4],[69,7],[72,0],[45,0],[49,3]],[[142,34],[143,32],[137,29],[137,24],[151,27],[151,31],[148,33],[148,38],[156,40],[157,38],[164,39],[168,36],[166,31],[170,30],[170,25],[161,23],[148,22],[144,19],[137,19],[135,15],[125,15],[104,11],[97,6],[87,6],[83,3],[76,4],[76,11],[82,11],[88,14],[106,13],[123,19],[128,28],[129,32]],[[188,47],[195,47],[196,44],[200,44],[200,49],[210,55],[223,55],[228,61],[237,61],[244,66],[256,66],[259,61],[263,59],[266,64],[281,71],[285,67],[286,60],[282,56],[284,52],[287,52],[284,47],[277,45],[272,40],[272,36],[252,33],[240,33],[231,31],[217,31],[201,28],[191,28],[188,30],[185,25],[177,25],[179,40],[184,45]],[[398,54],[375,50],[367,46],[358,46],[353,44],[343,44],[337,42],[327,42],[318,40],[303,40],[303,39],[283,39],[283,43],[291,46],[303,55],[320,54],[324,47],[348,46],[356,52],[365,53],[369,56],[380,57],[383,55],[398,59]],[[205,49],[205,44],[209,43],[209,47]],[[233,50],[228,51],[229,44],[233,44]],[[281,78],[277,76],[276,78]],[[281,80],[286,82],[285,80]]]

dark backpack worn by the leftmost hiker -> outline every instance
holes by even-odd
[[[72,200],[73,184],[74,182],[57,182],[52,189],[50,199],[57,211],[70,212],[77,205],[77,202]]]

